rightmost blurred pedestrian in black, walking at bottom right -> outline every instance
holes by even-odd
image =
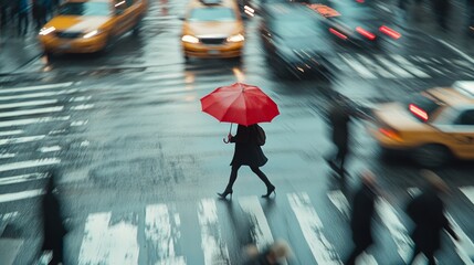
[[[426,180],[428,186],[407,206],[407,213],[414,223],[414,230],[411,234],[414,251],[408,264],[413,264],[415,257],[423,253],[429,264],[434,265],[434,254],[441,247],[441,231],[445,230],[456,241],[459,237],[444,214],[441,194],[449,191],[446,183],[432,171],[423,170],[421,174]]]

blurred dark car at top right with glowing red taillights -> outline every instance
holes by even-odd
[[[320,15],[327,32],[339,43],[377,47],[381,39],[397,41],[401,38],[389,26],[387,10],[364,0],[322,0],[307,7]]]

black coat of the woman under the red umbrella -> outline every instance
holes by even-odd
[[[256,134],[255,126],[239,125],[236,135],[230,139],[231,142],[235,142],[231,166],[262,167],[268,161],[262,148],[256,144]]]

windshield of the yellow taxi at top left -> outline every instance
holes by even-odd
[[[61,7],[62,15],[109,15],[108,2],[69,2]]]

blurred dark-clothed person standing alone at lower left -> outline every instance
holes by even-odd
[[[50,265],[63,263],[63,237],[66,234],[66,229],[63,224],[61,214],[61,205],[57,195],[55,194],[56,173],[50,173],[48,180],[46,193],[43,197],[43,251],[52,251],[53,257]]]

